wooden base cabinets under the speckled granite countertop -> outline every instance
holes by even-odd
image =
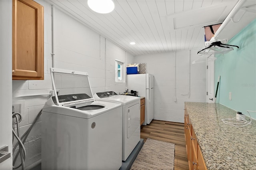
[[[186,150],[188,156],[188,166],[190,170],[207,170],[202,152],[198,146],[196,134],[191,125],[189,115],[184,112],[184,130],[186,140]]]

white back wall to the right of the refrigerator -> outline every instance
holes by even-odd
[[[192,64],[199,57],[197,51],[197,49],[191,50],[190,55],[190,96],[188,96],[189,51],[176,52],[176,102],[174,101],[175,52],[134,57],[136,63],[146,63],[146,73],[155,77],[154,119],[184,123],[184,102],[205,102],[206,64]]]

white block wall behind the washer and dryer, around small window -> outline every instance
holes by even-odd
[[[20,97],[20,95],[50,93],[52,82],[52,18],[51,5],[45,1],[37,1],[44,6],[44,80],[13,80],[13,102],[24,103],[22,113],[22,133],[30,127],[34,118],[44,106],[49,96]],[[115,83],[115,59],[133,62],[134,56],[126,53],[114,43],[100,34],[90,30],[82,23],[74,20],[64,12],[54,10],[54,67],[88,72],[92,92],[116,91],[124,92],[126,83]],[[28,136],[25,148],[27,159],[25,166],[33,166],[41,159],[41,119],[35,124]],[[19,162],[19,161],[18,161]]]

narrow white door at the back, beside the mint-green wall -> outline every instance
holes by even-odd
[[[206,102],[214,103],[214,60],[206,60]]]

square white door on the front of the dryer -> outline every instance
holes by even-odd
[[[138,127],[140,127],[140,105],[136,104],[128,107],[127,112],[127,138],[132,136]]]

